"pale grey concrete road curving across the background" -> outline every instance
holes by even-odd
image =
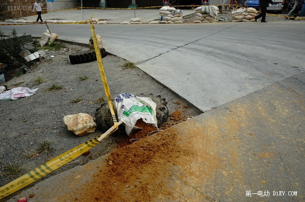
[[[49,24],[87,44],[88,24]],[[1,26],[41,36],[43,24]],[[305,71],[304,22],[95,25],[105,49],[137,64],[202,111]]]

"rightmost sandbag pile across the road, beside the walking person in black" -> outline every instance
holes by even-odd
[[[257,15],[257,11],[254,8],[239,8],[236,11],[232,11],[232,22],[254,22],[254,16]]]

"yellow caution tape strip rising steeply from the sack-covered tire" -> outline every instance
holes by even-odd
[[[105,74],[105,70],[104,70],[103,59],[102,59],[102,56],[101,56],[100,47],[98,45],[98,39],[97,39],[97,36],[95,34],[95,31],[94,31],[92,18],[93,18],[93,15],[91,16],[91,19],[90,19],[90,26],[91,26],[91,35],[92,35],[92,39],[93,39],[93,43],[94,43],[94,49],[95,49],[95,52],[96,52],[96,55],[97,55],[100,74],[101,74],[101,77],[102,77],[102,80],[103,80],[103,86],[104,86],[105,94],[106,94],[106,97],[107,97],[107,103],[108,103],[108,106],[110,108],[113,123],[114,123],[114,125],[116,125],[117,120],[116,120],[115,113],[114,113],[114,108],[113,108],[113,104],[112,104],[112,100],[111,100],[110,90],[109,90],[109,86],[108,86],[108,83],[107,83],[107,78],[106,78],[106,74]]]

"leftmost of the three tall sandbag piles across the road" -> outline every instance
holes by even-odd
[[[159,9],[160,23],[183,23],[181,9],[175,9],[174,7],[164,6]]]

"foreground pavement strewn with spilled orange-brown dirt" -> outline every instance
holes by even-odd
[[[8,201],[303,201],[304,83],[284,79]]]

